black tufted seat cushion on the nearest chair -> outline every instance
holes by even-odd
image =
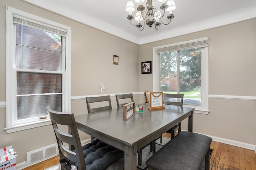
[[[86,170],[117,170],[116,167],[120,167],[118,164],[124,164],[124,152],[122,150],[116,149],[98,139],[84,145],[82,149]],[[68,162],[76,167],[78,166],[77,162],[70,160]]]

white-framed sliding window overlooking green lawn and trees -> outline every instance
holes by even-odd
[[[153,89],[184,94],[183,105],[208,113],[208,37],[154,48]],[[169,76],[169,82],[160,82]]]

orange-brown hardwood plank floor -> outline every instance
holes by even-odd
[[[164,137],[170,137],[165,133]],[[210,170],[256,170],[256,154],[254,150],[243,149],[224,143],[212,141],[213,149],[210,158]],[[24,170],[44,170],[59,162],[59,156],[40,162]]]

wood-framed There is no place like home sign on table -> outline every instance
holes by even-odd
[[[164,109],[163,92],[150,92],[150,107],[148,109]]]

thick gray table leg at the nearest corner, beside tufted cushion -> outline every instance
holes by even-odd
[[[124,146],[124,170],[137,170],[137,146]]]

